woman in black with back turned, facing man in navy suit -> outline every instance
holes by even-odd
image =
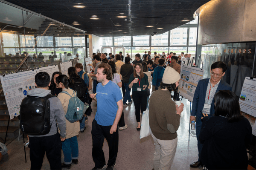
[[[252,140],[252,127],[240,114],[235,93],[219,90],[214,98],[215,116],[203,113],[202,117],[201,161],[209,170],[247,170],[246,145]]]

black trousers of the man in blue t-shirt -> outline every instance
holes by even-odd
[[[104,139],[108,141],[109,157],[108,165],[112,166],[116,161],[118,152],[118,130],[110,134],[111,126],[101,126],[94,119],[92,123],[92,138],[93,138],[93,161],[95,167],[103,167],[106,163],[104,152],[102,150]],[[116,128],[117,129],[117,128]]]

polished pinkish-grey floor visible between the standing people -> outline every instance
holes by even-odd
[[[199,168],[190,168],[189,164],[198,159],[197,140],[196,137],[190,135],[189,140],[189,107],[190,102],[182,99],[184,110],[181,113],[180,127],[177,131],[178,144],[175,158],[172,164],[172,170],[201,170]],[[85,123],[86,130],[79,133],[79,164],[72,165],[74,170],[91,170],[94,167],[92,158],[92,138],[91,123],[95,116],[96,103],[92,103],[93,112],[89,116],[89,121]],[[119,150],[116,160],[116,170],[152,170],[154,145],[151,136],[140,140],[140,132],[136,130],[137,122],[135,119],[134,104],[124,107],[125,124],[128,128],[119,131]],[[20,141],[15,139],[7,145],[8,153],[3,156],[0,162],[1,170],[29,170],[29,148],[26,148],[27,163],[25,163],[23,139]],[[104,142],[103,150],[106,162],[108,161],[108,144]],[[62,162],[64,161],[62,155]],[[49,170],[49,162],[44,157],[42,170]]]

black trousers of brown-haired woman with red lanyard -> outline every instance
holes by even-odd
[[[133,91],[132,99],[135,106],[136,121],[140,122],[140,111],[141,113],[144,112],[147,107],[147,92]]]

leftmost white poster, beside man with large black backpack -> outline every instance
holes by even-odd
[[[35,88],[35,70],[1,75],[4,97],[8,107],[10,119],[20,115],[20,104],[27,92]]]

